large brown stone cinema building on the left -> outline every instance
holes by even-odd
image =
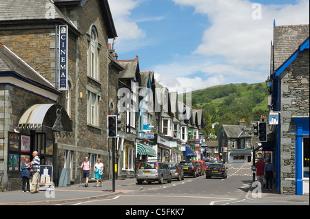
[[[59,43],[62,25],[68,27],[63,29],[68,31],[64,37],[68,45],[65,50],[61,50],[65,44]],[[17,172],[10,169],[9,154],[13,157],[28,154],[31,157],[30,151],[10,148],[10,133],[30,137],[30,150],[39,150],[41,164],[53,166],[56,185],[62,169],[70,170],[68,178],[72,183],[78,182],[78,167],[85,156],[90,157],[92,165],[100,157],[105,165],[103,178],[109,177],[110,144],[106,124],[109,107],[112,102],[116,105],[118,81],[115,76],[121,67],[112,69],[107,41],[116,36],[107,0],[1,2],[0,43],[6,46],[1,48],[2,52],[8,54],[7,49],[10,49],[18,56],[16,59],[24,63],[20,69],[3,68],[1,76],[4,76],[4,70],[10,70],[13,72],[11,77],[18,74],[21,80],[45,92],[4,82],[4,77],[1,77],[1,101],[4,99],[6,106],[0,109],[0,173],[1,181],[8,189],[20,188],[12,183],[18,181],[19,168]],[[59,51],[68,57],[60,59],[62,53]],[[63,61],[65,65],[59,67]],[[63,69],[67,70],[67,77],[65,88],[60,90],[63,75],[59,73]],[[111,78],[116,78],[116,81]],[[53,108],[40,111],[34,104],[52,104]],[[37,110],[37,116],[43,116],[41,124],[20,124],[21,118],[30,118],[33,109]],[[55,114],[59,111],[61,119]],[[57,118],[63,128],[53,128]],[[66,126],[69,127],[67,130]]]

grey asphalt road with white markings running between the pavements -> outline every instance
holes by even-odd
[[[227,164],[228,177],[185,176],[184,181],[143,184],[143,189],[101,200],[66,205],[236,205],[245,203],[251,185],[251,163]],[[141,185],[136,185],[141,187]]]

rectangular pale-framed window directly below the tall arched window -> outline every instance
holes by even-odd
[[[87,124],[99,126],[99,100],[99,95],[87,91]]]

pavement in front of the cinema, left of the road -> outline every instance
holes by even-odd
[[[112,181],[103,181],[103,185],[96,187],[96,183],[70,185],[70,187],[55,187],[54,192],[40,191],[31,194],[28,192],[9,191],[0,192],[1,205],[57,205],[69,202],[94,200],[117,196],[142,189],[136,186],[136,178],[115,181],[115,192],[112,192]]]

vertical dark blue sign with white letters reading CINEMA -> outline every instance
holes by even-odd
[[[68,25],[59,25],[59,91],[68,90]]]

